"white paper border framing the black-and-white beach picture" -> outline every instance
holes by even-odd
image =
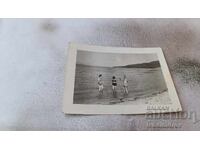
[[[74,83],[76,71],[77,51],[91,51],[103,53],[132,53],[147,54],[155,53],[161,65],[161,70],[168,88],[171,104],[161,105],[86,105],[73,104]],[[150,108],[150,109],[149,109]],[[152,108],[152,109],[151,109]],[[182,107],[169,72],[164,54],[161,48],[129,48],[129,47],[104,47],[85,44],[69,43],[65,66],[65,89],[63,112],[65,114],[147,114],[147,113],[169,113],[182,111]]]

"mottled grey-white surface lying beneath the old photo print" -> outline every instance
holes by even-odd
[[[64,115],[68,42],[161,47],[185,113],[176,120]],[[3,19],[0,51],[0,130],[200,130],[199,19]],[[177,73],[185,66],[189,71]]]

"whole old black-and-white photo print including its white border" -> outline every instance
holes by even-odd
[[[161,48],[70,43],[65,68],[66,114],[182,111]]]

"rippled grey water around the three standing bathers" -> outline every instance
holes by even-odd
[[[102,74],[103,95],[97,79]],[[123,76],[128,79],[129,94],[123,94]],[[112,76],[117,78],[117,94],[112,93]],[[161,68],[113,68],[76,65],[74,104],[115,104],[120,99],[138,99],[167,91]],[[112,103],[111,103],[112,102]]]

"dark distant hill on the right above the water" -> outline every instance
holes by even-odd
[[[157,67],[160,67],[159,61],[152,61],[141,64],[131,64],[126,66],[115,66],[115,68],[157,68]]]

